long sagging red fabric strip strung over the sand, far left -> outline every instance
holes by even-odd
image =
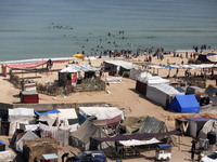
[[[10,64],[10,65],[7,65],[7,67],[12,68],[12,69],[25,70],[25,69],[33,69],[44,64],[47,64],[47,60],[41,60],[37,63],[27,63],[27,64]]]

